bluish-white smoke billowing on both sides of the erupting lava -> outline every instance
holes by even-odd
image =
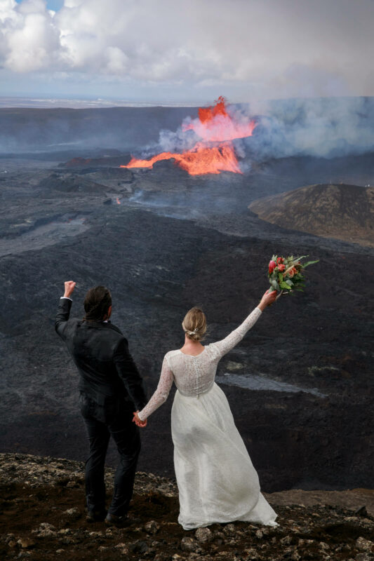
[[[374,151],[374,97],[278,100],[251,105],[231,105],[228,113],[243,125],[258,123],[253,136],[236,140],[236,154],[255,160],[287,156],[332,158]],[[175,132],[161,130],[159,151],[191,149],[201,140],[190,130],[188,117]]]

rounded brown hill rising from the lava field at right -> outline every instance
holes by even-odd
[[[262,220],[374,247],[374,188],[316,184],[253,201]]]

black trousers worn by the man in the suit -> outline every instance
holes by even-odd
[[[105,457],[112,436],[119,452],[114,478],[114,493],[109,513],[126,515],[133,496],[136,466],[140,453],[139,428],[132,422],[133,412],[121,410],[119,402],[98,405],[86,394],[79,397],[90,445],[86,461],[86,503],[88,511],[105,510]]]

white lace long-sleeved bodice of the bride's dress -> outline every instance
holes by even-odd
[[[169,351],[163,358],[159,385],[147,405],[139,412],[142,421],[147,419],[168,398],[173,381],[183,396],[196,397],[206,393],[214,384],[217,365],[226,353],[237,345],[248,330],[255,325],[261,310],[255,308],[239,327],[225,339],[206,345],[197,356],[182,351]]]

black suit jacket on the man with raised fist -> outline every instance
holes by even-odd
[[[60,299],[55,330],[78,368],[79,389],[98,405],[120,401],[126,410],[141,410],[147,398],[126,337],[110,322],[69,319],[71,307],[71,300]]]

